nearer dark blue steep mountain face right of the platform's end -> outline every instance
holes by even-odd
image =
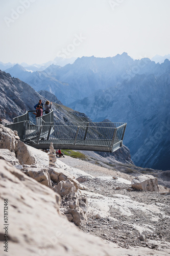
[[[124,144],[136,165],[169,169],[169,75],[136,75],[119,87],[71,104],[94,121],[127,122]]]

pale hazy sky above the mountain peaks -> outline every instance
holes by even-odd
[[[170,53],[170,0],[0,0],[0,61]]]

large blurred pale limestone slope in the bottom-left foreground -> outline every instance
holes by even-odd
[[[50,188],[17,170],[9,162],[0,159],[0,205],[8,199],[9,206],[9,252],[1,255],[55,255],[55,256],[165,256],[168,253],[150,248],[121,248],[108,244],[98,237],[80,231],[64,217],[57,203],[58,195]],[[73,214],[66,214],[72,218]],[[4,211],[0,211],[4,220]],[[0,227],[1,243],[4,239]]]

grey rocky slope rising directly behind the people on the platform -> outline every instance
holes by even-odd
[[[34,105],[39,99],[45,103],[46,100],[60,102],[55,95],[49,93],[47,98],[37,93],[27,83],[17,78],[12,78],[10,74],[0,71],[0,118],[13,121],[13,118],[34,110]],[[57,100],[56,100],[57,99]],[[61,103],[61,102],[60,102]],[[74,111],[66,106],[54,103],[55,121],[88,121],[89,118],[82,113]],[[35,116],[34,116],[35,117]]]

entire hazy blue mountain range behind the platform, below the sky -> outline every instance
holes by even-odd
[[[6,72],[45,90],[93,121],[127,122],[124,143],[136,165],[169,169],[170,61],[82,57],[64,67],[28,72],[19,65]]]

